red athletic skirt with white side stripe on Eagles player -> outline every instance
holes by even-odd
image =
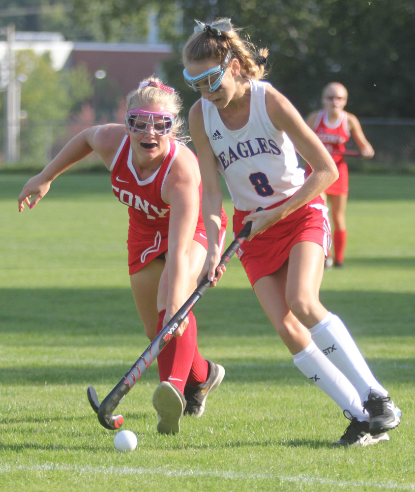
[[[275,206],[267,210],[271,208]],[[301,241],[311,241],[322,246],[327,256],[331,243],[327,213],[328,209],[319,195],[269,227],[263,234],[258,234],[249,242],[245,241],[238,250],[238,256],[251,285],[254,286],[259,278],[279,270],[287,261],[290,249]],[[242,220],[246,215],[249,212],[235,209],[235,235],[242,229]]]

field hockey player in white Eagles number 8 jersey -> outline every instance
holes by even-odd
[[[256,53],[230,19],[196,21],[183,48],[184,79],[200,92],[189,114],[203,181],[208,234],[205,271],[213,285],[222,193],[235,205],[234,233],[252,221],[239,257],[294,364],[351,421],[337,445],[389,440],[401,411],[376,380],[338,316],[319,301],[330,245],[327,208],[319,196],[338,177],[333,159],[293,105],[264,76],[267,50]],[[310,163],[304,180],[297,152]],[[258,207],[265,210],[255,212]],[[254,212],[252,212],[254,211]]]

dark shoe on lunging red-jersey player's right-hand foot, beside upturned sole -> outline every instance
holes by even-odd
[[[186,384],[184,387],[184,398],[186,399],[184,415],[201,417],[205,411],[205,401],[208,398],[208,394],[220,385],[225,376],[225,369],[222,366],[214,364],[211,361],[207,362],[209,365],[209,375],[206,382],[197,386]]]

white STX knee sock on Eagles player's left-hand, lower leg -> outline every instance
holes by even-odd
[[[310,381],[313,381],[342,410],[349,410],[357,420],[369,420],[356,388],[321,352],[312,341],[294,356],[294,364]]]

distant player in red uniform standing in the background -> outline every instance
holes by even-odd
[[[347,242],[346,204],[349,193],[349,173],[344,160],[345,144],[350,136],[355,140],[364,157],[373,157],[375,151],[366,140],[362,128],[355,115],[344,111],[347,104],[348,92],[338,82],[331,82],[323,89],[323,109],[311,113],[307,124],[316,132],[333,157],[339,171],[339,178],[322,193],[327,202],[330,201],[331,218],[334,225],[334,266],[341,267],[344,262],[344,253]],[[307,166],[306,174],[311,173]],[[327,258],[326,265],[331,266],[333,260]]]

